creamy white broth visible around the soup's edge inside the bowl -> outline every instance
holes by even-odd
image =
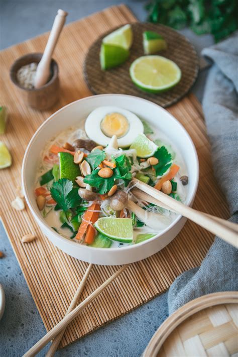
[[[150,124],[150,127],[153,129],[154,134],[150,134],[150,135],[148,135],[148,137],[153,141],[156,141],[159,139],[161,144],[168,147],[169,152],[175,153],[175,158],[173,159],[173,162],[176,163],[178,166],[180,166],[179,173],[176,174],[176,176],[174,177],[174,181],[177,183],[177,191],[176,192],[180,196],[181,201],[185,202],[186,196],[187,196],[187,186],[183,186],[181,181],[179,180],[180,176],[187,174],[186,165],[182,159],[182,156],[181,156],[179,150],[174,145],[172,145],[171,141],[168,139],[168,137],[164,133],[158,131],[158,129],[151,124]],[[77,127],[70,127],[69,129],[59,133],[57,136],[55,136],[55,138],[53,138],[51,141],[49,141],[46,144],[45,148],[43,149],[43,151],[41,153],[40,164],[38,166],[37,175],[36,175],[37,179],[35,182],[35,188],[40,186],[40,181],[39,181],[40,176],[53,166],[53,163],[48,163],[43,160],[44,157],[48,155],[50,147],[53,144],[56,144],[57,146],[63,146],[63,144],[66,141],[69,143],[72,143],[76,139],[88,139],[88,137],[84,131],[84,121],[83,122],[81,121]],[[57,162],[54,162],[54,163],[57,163]],[[47,215],[44,219],[50,227],[56,228],[60,235],[62,235],[65,238],[70,239],[72,232],[67,228],[60,228],[62,223],[59,220],[59,212],[60,211],[54,211],[54,207],[53,208],[49,207],[49,208],[47,208]],[[164,215],[170,217],[170,224],[177,217],[176,213],[170,212],[168,210],[162,209],[161,212],[163,212]],[[141,234],[141,233],[155,233],[155,235],[156,235],[159,233],[159,230],[155,232],[154,230],[152,230],[150,227],[147,227],[147,226],[143,226],[140,228],[134,228],[134,231],[133,231],[134,241],[135,241],[137,235]],[[82,244],[82,243],[80,243],[80,241],[78,241],[76,239],[74,239],[74,241],[78,242],[79,244]],[[130,243],[130,244],[133,244],[133,243]],[[122,247],[125,245],[129,245],[129,244],[112,241],[110,248]]]

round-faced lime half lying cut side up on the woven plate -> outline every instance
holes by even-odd
[[[160,93],[169,90],[180,81],[181,70],[168,58],[142,56],[131,64],[130,75],[141,90]]]

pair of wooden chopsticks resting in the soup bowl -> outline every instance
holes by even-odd
[[[238,247],[238,225],[207,213],[197,211],[172,197],[163,194],[140,180],[132,181],[132,193],[140,200],[153,203],[190,219],[226,242]]]

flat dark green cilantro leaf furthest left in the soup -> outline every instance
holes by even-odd
[[[50,193],[57,202],[57,206],[65,212],[70,208],[77,207],[81,202],[78,196],[78,189],[73,188],[73,182],[68,179],[60,179],[54,182]]]

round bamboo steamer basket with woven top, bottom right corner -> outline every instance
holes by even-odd
[[[144,357],[238,356],[238,292],[190,301],[158,328]]]

